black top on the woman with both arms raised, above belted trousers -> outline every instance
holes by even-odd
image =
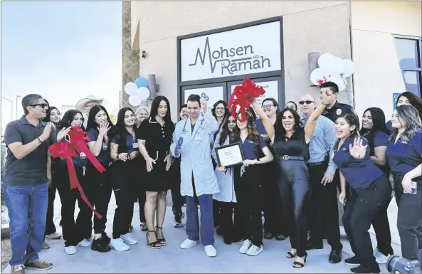
[[[309,144],[306,143],[305,129],[303,127],[298,128],[290,138],[275,139],[273,149],[275,157],[288,155],[303,157],[307,161],[309,159]]]

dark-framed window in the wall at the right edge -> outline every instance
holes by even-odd
[[[407,36],[395,36],[394,46],[399,59],[401,75],[407,91],[418,96],[422,93],[422,40]]]

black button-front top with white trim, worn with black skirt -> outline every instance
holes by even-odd
[[[137,130],[137,138],[145,140],[145,148],[152,159],[164,162],[164,159],[169,154],[170,144],[172,144],[172,137],[174,132],[174,124],[172,121],[164,122],[161,125],[154,117],[149,117],[142,121]],[[157,162],[156,161],[156,162]]]

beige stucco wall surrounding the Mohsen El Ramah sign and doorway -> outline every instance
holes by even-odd
[[[350,58],[348,14],[346,1],[137,2],[132,4],[132,19],[139,19],[139,49],[147,52],[139,73],[157,75],[157,94],[172,102],[176,120],[177,36],[283,16],[286,100],[297,101],[303,93],[319,94],[318,88],[310,87],[308,53]],[[346,97],[343,93],[340,100]]]

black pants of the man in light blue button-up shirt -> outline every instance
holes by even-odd
[[[340,243],[339,210],[337,207],[337,185],[331,183],[321,184],[327,171],[326,162],[312,166],[310,174],[311,196],[309,203],[310,241],[322,245],[322,234],[326,233],[327,241],[332,249],[342,249]]]

